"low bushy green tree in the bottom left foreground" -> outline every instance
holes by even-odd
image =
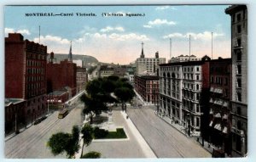
[[[53,134],[47,146],[54,155],[66,152],[68,158],[73,158],[74,154],[79,151],[79,127],[73,126],[71,134],[64,132]]]

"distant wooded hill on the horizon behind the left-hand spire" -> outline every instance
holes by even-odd
[[[91,64],[97,64],[99,61],[92,56],[88,55],[80,55],[80,54],[72,54],[73,59],[81,59],[84,60],[84,63],[86,66],[90,66]],[[48,56],[49,58],[49,56]],[[62,54],[62,53],[55,53],[55,59],[57,63],[60,63],[62,60],[67,59],[67,54]]]

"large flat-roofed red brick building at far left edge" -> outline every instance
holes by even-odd
[[[46,58],[44,45],[24,41],[19,33],[5,38],[5,98],[25,101],[24,124],[46,112]]]

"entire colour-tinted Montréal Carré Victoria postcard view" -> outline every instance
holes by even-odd
[[[4,6],[6,159],[247,157],[247,5]]]

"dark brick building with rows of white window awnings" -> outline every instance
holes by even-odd
[[[210,62],[210,101],[208,141],[220,151],[231,154],[232,90],[231,59],[213,59]]]

